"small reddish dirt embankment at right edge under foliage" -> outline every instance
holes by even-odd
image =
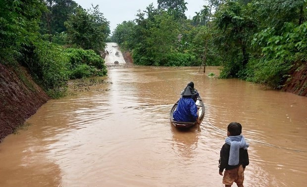
[[[301,66],[294,67],[291,75],[282,90],[307,96],[307,62],[303,62]]]

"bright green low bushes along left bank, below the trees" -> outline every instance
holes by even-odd
[[[26,66],[46,93],[57,98],[66,92],[69,79],[104,76],[104,60],[94,50],[64,48],[47,41],[35,42],[22,51],[19,63]]]

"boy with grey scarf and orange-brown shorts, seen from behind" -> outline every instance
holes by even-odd
[[[232,122],[227,127],[227,138],[220,151],[218,161],[219,174],[223,175],[225,187],[231,187],[235,182],[238,187],[243,187],[245,167],[249,165],[249,154],[247,143],[241,135],[242,126],[240,123]]]

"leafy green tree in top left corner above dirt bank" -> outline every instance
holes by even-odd
[[[44,5],[37,0],[0,0],[0,61],[14,64],[20,50],[38,38]]]

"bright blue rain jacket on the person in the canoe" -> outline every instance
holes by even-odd
[[[198,118],[195,101],[191,97],[181,97],[173,118],[176,121],[195,122]]]

